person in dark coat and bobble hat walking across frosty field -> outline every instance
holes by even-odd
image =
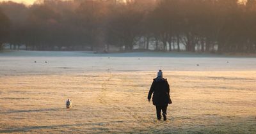
[[[150,102],[151,95],[153,94],[153,105],[156,106],[157,119],[161,120],[161,110],[163,112],[164,121],[166,121],[166,110],[168,104],[172,103],[170,99],[170,87],[166,78],[163,78],[162,70],[157,73],[157,78],[154,81],[148,92],[148,101]]]

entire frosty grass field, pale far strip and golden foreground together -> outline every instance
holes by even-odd
[[[173,101],[166,122],[147,101],[159,69]],[[256,133],[255,111],[253,57],[0,53],[0,133]]]

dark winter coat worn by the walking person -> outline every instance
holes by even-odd
[[[154,81],[148,92],[148,100],[151,99],[153,94],[153,105],[156,106],[168,106],[170,103],[170,87],[167,80],[163,77],[154,78]]]

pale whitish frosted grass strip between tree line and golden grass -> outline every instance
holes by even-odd
[[[164,53],[161,55],[157,52],[92,54],[36,51],[0,53],[0,75],[87,73],[108,70],[157,71],[158,69],[163,71],[235,71],[255,70],[255,68],[256,58],[207,57],[204,54]]]

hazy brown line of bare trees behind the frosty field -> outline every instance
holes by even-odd
[[[0,49],[256,53],[256,0],[0,3]]]

